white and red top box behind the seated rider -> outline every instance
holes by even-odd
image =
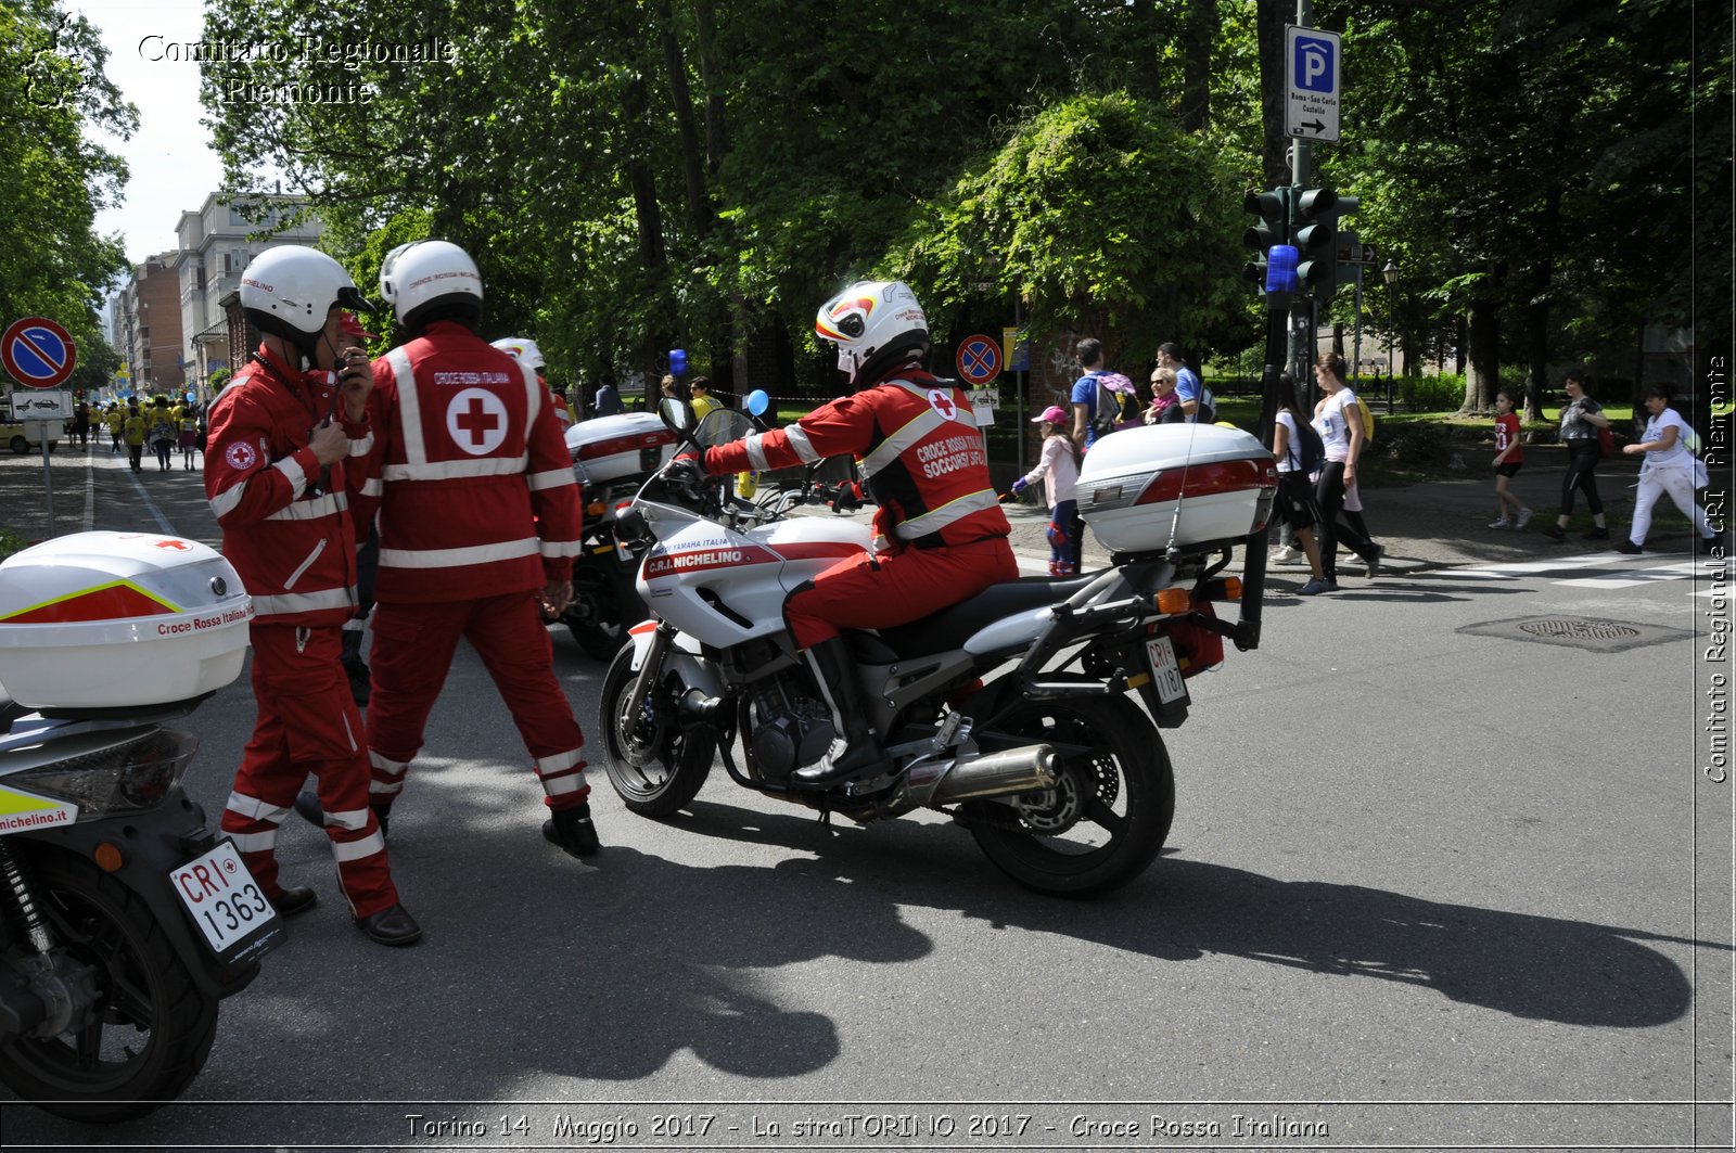
[[[1259,439],[1215,424],[1156,424],[1104,436],[1080,467],[1078,509],[1115,552],[1158,552],[1266,526],[1278,464]]]

